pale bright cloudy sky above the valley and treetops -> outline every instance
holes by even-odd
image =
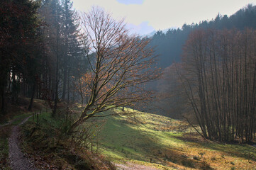
[[[73,0],[78,11],[101,6],[113,18],[125,18],[131,32],[140,35],[211,21],[218,13],[230,16],[247,4],[256,5],[256,0]]]

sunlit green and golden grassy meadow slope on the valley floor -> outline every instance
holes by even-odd
[[[255,148],[205,141],[184,123],[160,115],[108,117],[97,140],[116,162],[150,164],[151,158],[160,169],[256,169]]]

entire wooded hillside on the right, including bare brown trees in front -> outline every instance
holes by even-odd
[[[177,48],[163,47],[181,53],[158,82],[157,90],[164,94],[157,103],[162,114],[199,123],[201,135],[208,139],[254,140],[255,18],[256,7],[249,5],[233,16],[218,15],[213,21],[162,34],[165,45],[172,40],[168,34],[187,36]],[[157,35],[161,33],[154,38]]]

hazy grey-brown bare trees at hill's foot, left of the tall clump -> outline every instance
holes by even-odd
[[[182,64],[175,63],[164,69],[162,77],[157,84],[159,91],[155,107],[157,113],[169,118],[182,119],[183,116],[191,115],[191,106],[189,105],[187,95],[182,87],[179,74],[182,71]]]

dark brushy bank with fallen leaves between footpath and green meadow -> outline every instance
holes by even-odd
[[[23,125],[23,152],[30,155],[38,169],[116,169],[100,154],[89,152],[67,135],[69,123],[49,113],[30,118]]]

